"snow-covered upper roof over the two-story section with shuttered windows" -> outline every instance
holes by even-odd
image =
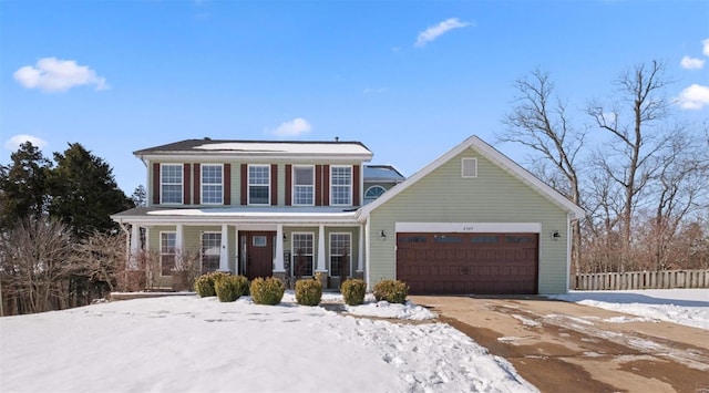
[[[133,152],[140,158],[161,156],[308,157],[370,161],[372,152],[361,142],[342,141],[229,141],[185,139]]]

